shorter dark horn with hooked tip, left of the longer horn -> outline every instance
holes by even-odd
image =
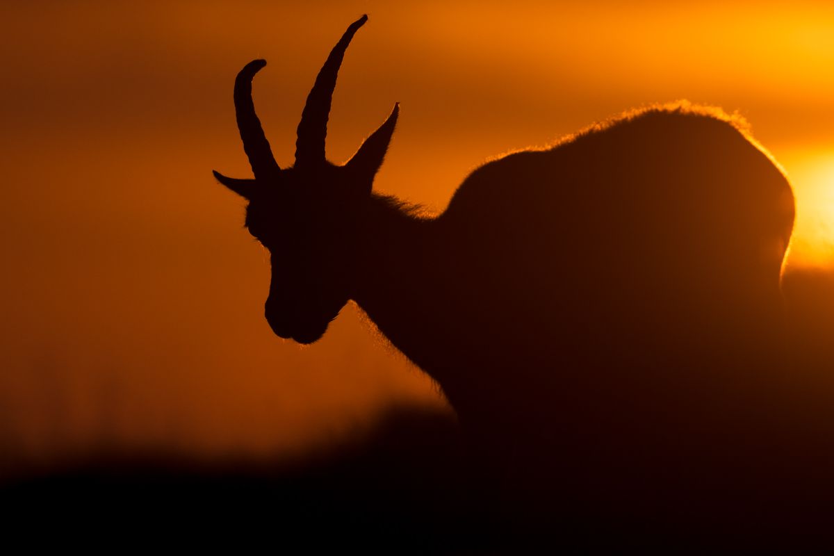
[[[269,180],[277,176],[281,168],[272,156],[269,141],[266,140],[252,102],[252,78],[265,65],[265,60],[253,60],[238,73],[234,80],[234,113],[238,118],[240,138],[244,141],[244,151],[249,157],[255,178]]]

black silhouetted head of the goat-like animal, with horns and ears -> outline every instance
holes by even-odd
[[[330,52],[307,97],[295,164],[279,168],[269,148],[252,101],[252,78],[264,60],[240,70],[234,82],[234,109],[240,138],[254,179],[214,177],[249,200],[246,227],[269,249],[272,280],[265,313],[281,338],[299,343],[319,339],[349,299],[344,273],[351,264],[352,231],[394,133],[398,105],[343,166],[324,158],[324,138],[336,76],[362,16],[345,31]],[[343,279],[339,279],[343,278]]]

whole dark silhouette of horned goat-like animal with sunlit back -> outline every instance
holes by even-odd
[[[485,163],[428,218],[372,191],[399,105],[343,166],[325,158],[336,76],[366,20],[319,72],[292,168],[254,112],[264,60],[234,84],[254,179],[214,176],[249,200],[271,254],[274,333],[312,343],[358,303],[440,384],[481,496],[521,526],[620,540],[811,527],[818,513],[786,519],[785,503],[831,493],[811,473],[831,463],[831,412],[786,372],[793,195],[741,118],[633,111]]]

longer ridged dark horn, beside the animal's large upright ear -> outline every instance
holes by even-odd
[[[295,141],[296,166],[324,163],[324,138],[327,136],[327,119],[330,114],[330,100],[336,88],[336,75],[339,73],[339,66],[342,65],[344,51],[347,50],[350,39],[354,38],[354,33],[366,21],[368,16],[364,15],[350,24],[339,43],[330,51],[319,76],[315,79],[315,84],[307,96],[304,112],[301,113],[298,138]]]

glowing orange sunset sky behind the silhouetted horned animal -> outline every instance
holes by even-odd
[[[250,175],[232,85],[253,58],[292,162],[315,74],[362,13],[328,153],[399,101],[379,191],[440,211],[487,158],[687,98],[744,115],[786,168],[790,267],[831,260],[831,3],[3,3],[0,477],[102,451],[280,458],[394,404],[449,411],[352,306],[308,348],[274,337],[269,259],[210,173]]]

